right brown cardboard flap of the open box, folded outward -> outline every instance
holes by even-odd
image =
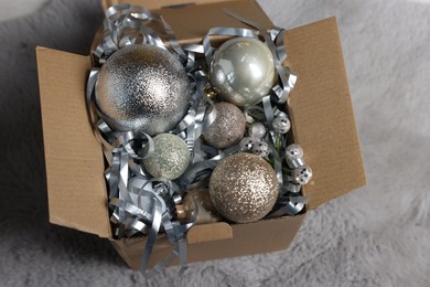
[[[334,18],[287,31],[298,74],[289,100],[294,136],[313,170],[309,208],[366,183],[337,24]]]

